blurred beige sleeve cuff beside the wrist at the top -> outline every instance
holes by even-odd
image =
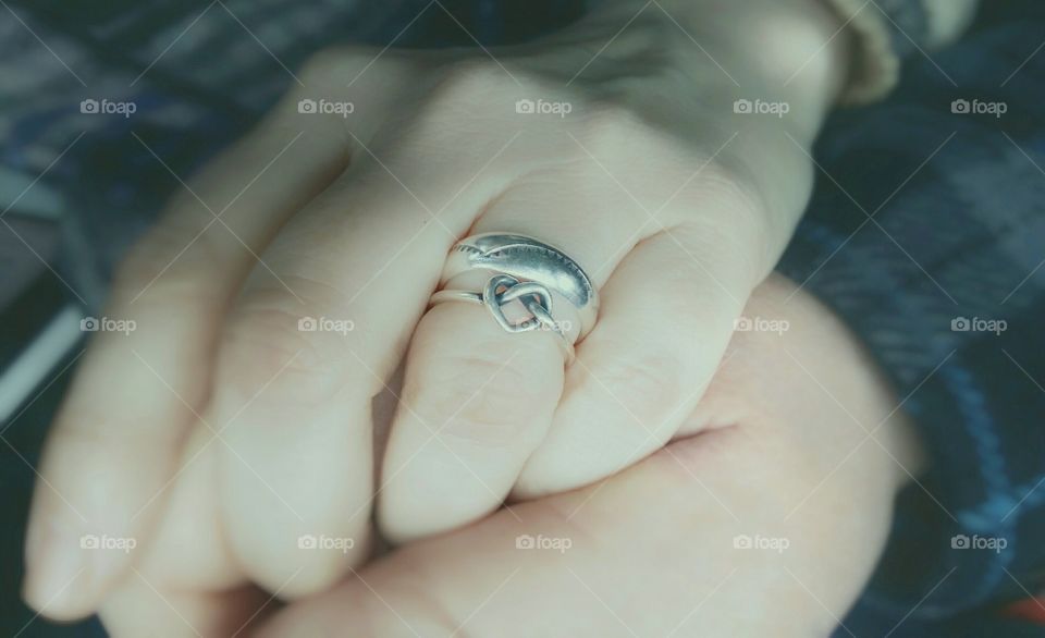
[[[855,34],[849,85],[841,101],[865,103],[896,86],[900,61],[960,36],[979,0],[825,0]]]

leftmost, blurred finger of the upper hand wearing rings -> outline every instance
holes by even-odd
[[[135,330],[94,335],[40,468],[25,596],[48,615],[88,613],[126,568],[132,554],[85,551],[82,539],[144,540],[251,253],[340,170],[343,148],[293,126],[294,108],[278,107],[180,188],[116,278],[106,316]]]

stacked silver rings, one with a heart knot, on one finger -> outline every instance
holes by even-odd
[[[490,271],[482,291],[441,290],[431,304],[467,302],[485,306],[507,332],[545,329],[560,335],[573,359],[574,343],[591,332],[599,315],[599,295],[591,279],[565,253],[525,235],[484,233],[457,242],[440,278],[440,286],[468,271]],[[555,319],[555,300],[565,300],[578,321],[578,330],[563,328]],[[530,317],[509,321],[504,307],[520,302]]]

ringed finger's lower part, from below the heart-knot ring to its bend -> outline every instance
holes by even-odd
[[[555,339],[507,335],[478,306],[443,304],[425,316],[382,469],[388,538],[450,529],[504,500],[562,392]]]

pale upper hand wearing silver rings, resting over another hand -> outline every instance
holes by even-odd
[[[138,329],[98,335],[61,410],[28,600],[74,617],[128,577],[133,552],[85,552],[85,535],[190,547],[161,588],[328,587],[369,551],[371,401],[408,342],[378,492],[395,541],[676,435],[798,219],[801,147],[845,69],[817,1],[734,4],[629,22],[640,4],[607,2],[495,61],[318,57],[121,270],[107,315]],[[790,111],[737,113],[738,97]],[[426,312],[453,242],[493,230],[562,247],[600,286],[568,369],[551,334],[508,335],[460,304]],[[355,544],[303,553],[309,535]]]

